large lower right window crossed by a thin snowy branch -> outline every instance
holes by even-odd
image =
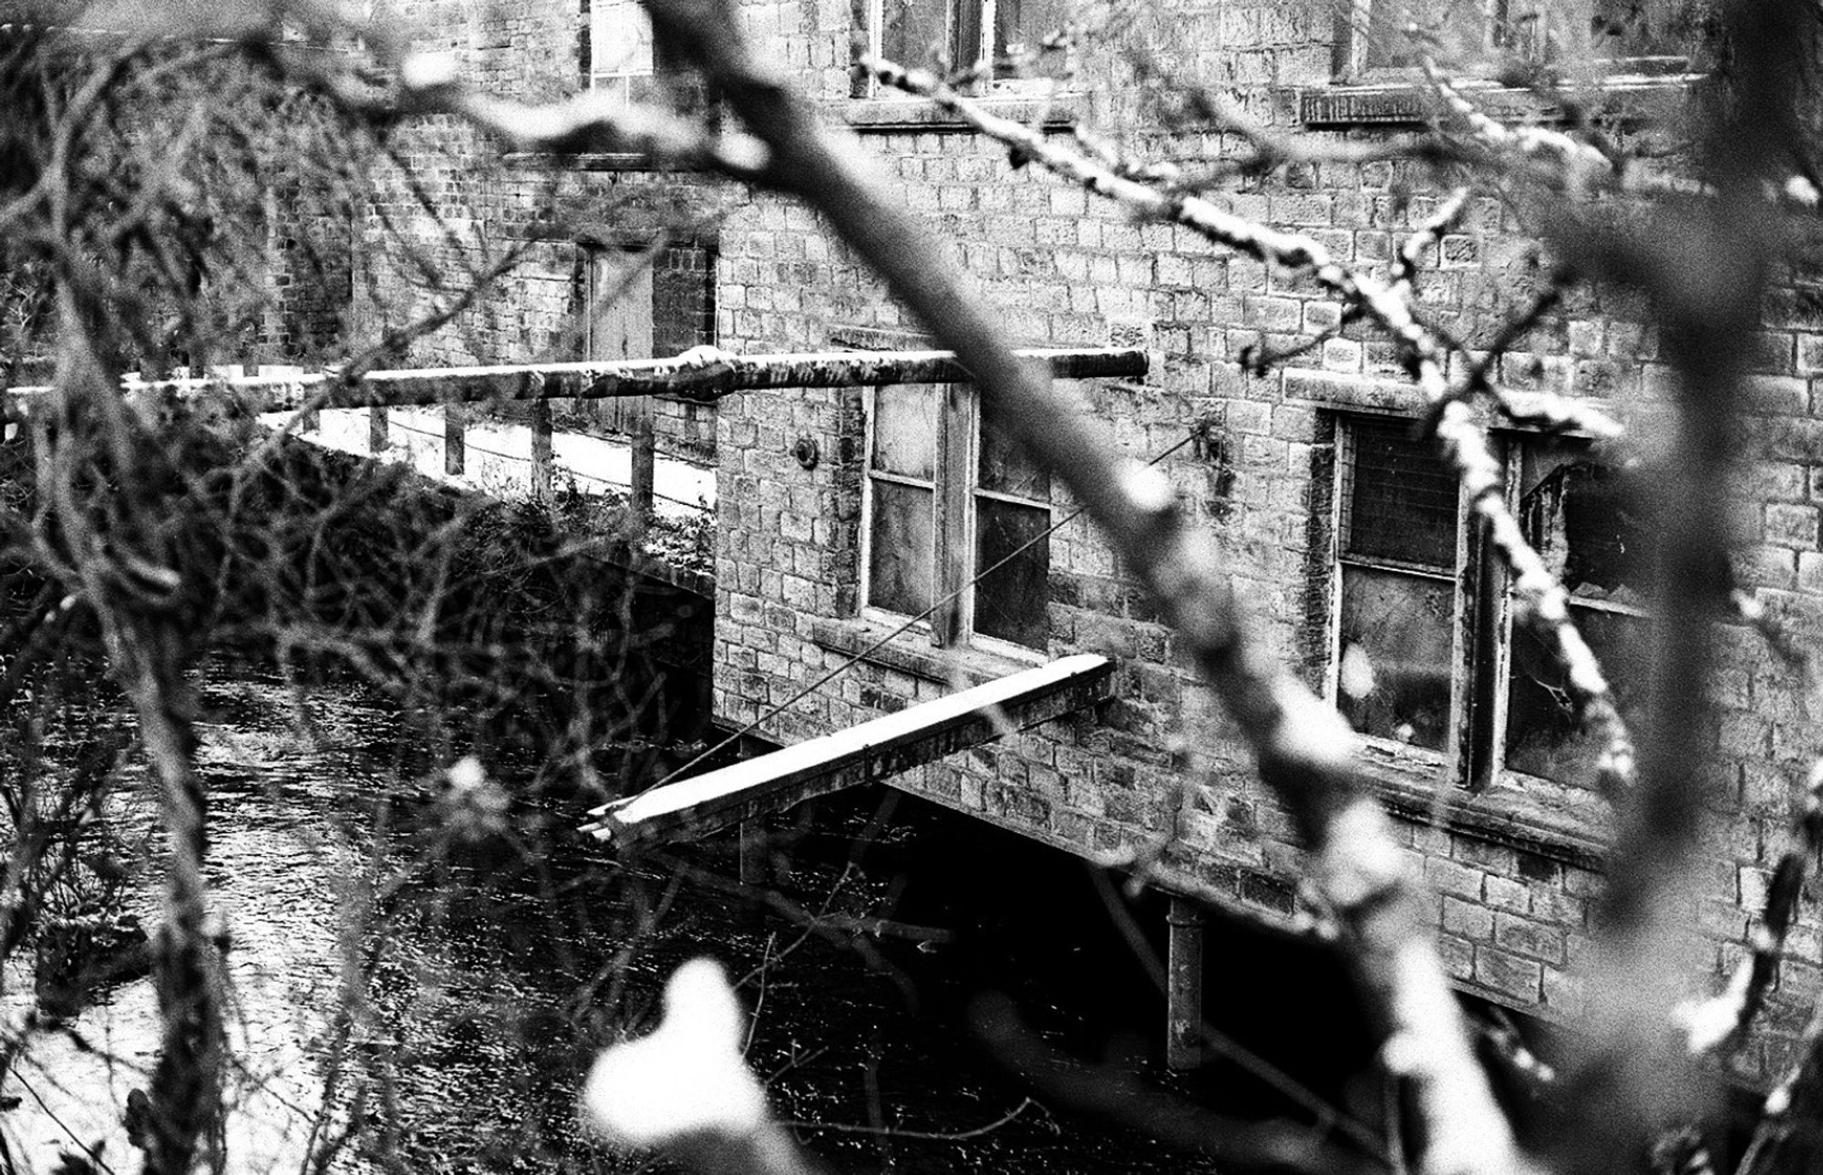
[[[1581,442],[1504,449],[1528,538],[1570,589],[1621,712],[1639,712],[1650,620],[1632,489]],[[1513,624],[1504,567],[1429,442],[1402,420],[1347,421],[1336,504],[1333,686],[1349,723],[1464,786],[1502,774],[1591,786],[1601,748],[1555,657]]]

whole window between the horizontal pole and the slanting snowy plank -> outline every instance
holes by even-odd
[[[930,617],[937,644],[968,637],[1043,651],[1048,637],[1050,474],[979,412],[963,385],[871,392],[862,600]]]

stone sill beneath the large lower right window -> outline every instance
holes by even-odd
[[[1613,812],[1595,792],[1519,777],[1468,792],[1438,783],[1429,763],[1376,743],[1364,744],[1362,761],[1393,816],[1602,870]]]

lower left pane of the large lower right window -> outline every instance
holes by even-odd
[[[1429,750],[1449,744],[1455,584],[1342,567],[1336,702],[1354,730]]]

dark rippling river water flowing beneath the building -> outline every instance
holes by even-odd
[[[616,861],[565,832],[580,803],[501,817],[489,799],[512,792],[510,763],[485,763],[490,783],[452,799],[447,764],[357,686],[299,691],[215,666],[202,704],[210,881],[232,934],[233,1171],[636,1170],[578,1126],[576,1091],[605,1042],[651,1027],[664,978],[700,954],[738,982],[749,1066],[831,1171],[1216,1170],[1056,1097],[1087,1064],[1136,1080],[1123,1106],[1148,1115],[1196,1120],[1156,1100],[1172,1093],[1302,1113],[1245,1067],[1196,1082],[1158,1071],[1163,1002],[1138,949],[1158,947],[1161,912],[1114,901],[1134,918],[1123,932],[1107,885],[1063,854],[855,792],[778,817],[773,883],[744,889],[729,836]],[[106,828],[122,858],[155,867],[144,797],[122,788]],[[853,931],[882,916],[902,925]],[[1262,951],[1212,934],[1225,976],[1212,994],[1240,1005],[1258,998],[1249,983],[1282,985]],[[13,974],[15,1016],[29,996]],[[1347,1009],[1329,1016],[1302,1014],[1293,1035],[1329,1035],[1334,1056],[1365,1047]],[[1017,1024],[1025,1044],[1077,1060],[1043,1062],[1034,1093],[981,1024]],[[1254,1016],[1234,1027],[1272,1047]],[[122,1115],[155,1042],[149,980],[38,1033],[16,1069],[22,1104],[0,1115],[13,1159],[137,1170]]]

